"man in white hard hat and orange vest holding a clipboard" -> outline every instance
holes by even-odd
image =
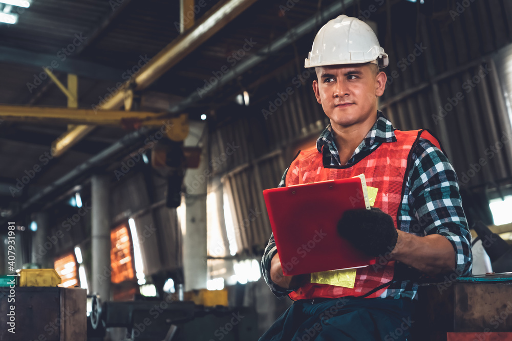
[[[284,276],[272,235],[264,278],[275,295],[296,302],[260,340],[407,339],[419,276],[471,275],[471,236],[452,165],[430,133],[395,130],[377,110],[387,80],[379,67],[387,65],[377,37],[356,18],[340,15],[315,37],[305,67],[315,67],[313,91],[330,124],[279,186],[364,173],[378,189],[375,209],[348,211],[338,232],[379,262],[321,280]]]

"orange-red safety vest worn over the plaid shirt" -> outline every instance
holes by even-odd
[[[288,169],[286,186],[343,179],[365,174],[367,186],[378,189],[374,207],[389,214],[393,218],[395,228],[397,228],[397,217],[400,214],[403,192],[408,172],[411,169],[411,154],[414,146],[420,137],[429,140],[439,149],[441,149],[441,146],[437,139],[424,129],[411,131],[395,130],[395,137],[396,142],[380,144],[371,154],[350,167],[325,168],[323,165],[323,152],[318,152],[316,147],[301,151]],[[327,160],[330,163],[330,157]],[[358,268],[356,270],[354,288],[306,283],[291,292],[289,297],[292,300],[319,297],[359,297],[363,295],[368,298],[379,297],[385,292],[386,284],[393,280],[394,267],[395,262],[390,261],[383,266]],[[370,291],[377,289],[379,286],[381,287],[380,289],[368,295]]]

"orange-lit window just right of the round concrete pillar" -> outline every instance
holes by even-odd
[[[132,244],[126,224],[121,224],[110,233],[112,247],[110,261],[112,266],[112,283],[121,283],[134,279],[132,265]]]

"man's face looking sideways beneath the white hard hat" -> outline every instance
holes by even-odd
[[[386,86],[386,74],[375,64],[316,67],[313,81],[316,100],[334,128],[347,128],[375,120],[377,97]]]

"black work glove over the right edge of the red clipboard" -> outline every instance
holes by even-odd
[[[338,222],[338,234],[372,257],[393,251],[398,240],[393,218],[373,207],[346,211]]]

